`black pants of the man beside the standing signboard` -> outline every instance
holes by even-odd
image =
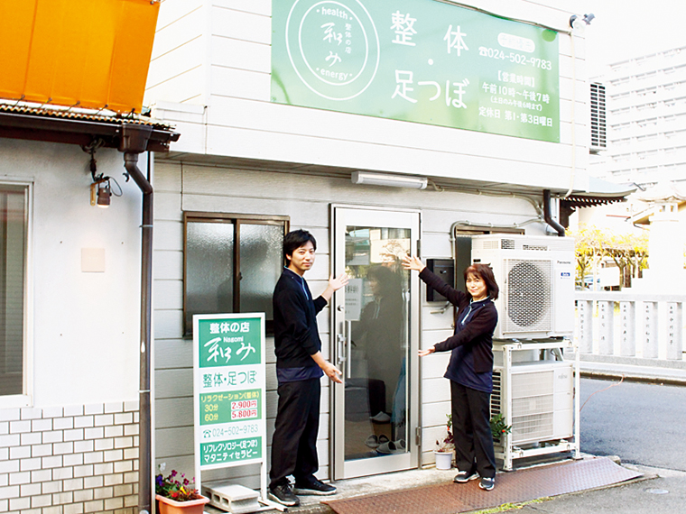
[[[285,483],[291,474],[296,482],[309,479],[320,467],[320,379],[286,382],[279,385],[278,393],[270,488]]]

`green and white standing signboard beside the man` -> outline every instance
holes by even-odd
[[[195,315],[193,346],[196,481],[205,469],[264,464],[264,313]]]

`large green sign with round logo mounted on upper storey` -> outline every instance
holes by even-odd
[[[436,0],[274,0],[272,101],[560,141],[558,33]]]

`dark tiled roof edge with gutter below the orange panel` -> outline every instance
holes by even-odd
[[[150,127],[147,151],[169,151],[169,143],[180,136],[172,125],[142,115],[23,102],[0,103],[0,137],[80,145],[100,140],[102,146],[119,148],[125,124]]]

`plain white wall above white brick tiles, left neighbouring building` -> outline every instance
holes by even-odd
[[[90,206],[89,156],[78,145],[0,138],[0,182],[33,184],[26,348],[33,407],[138,400],[142,194],[125,182],[121,153],[100,150],[96,158],[98,173],[124,193],[107,209]],[[104,272],[81,271],[83,248],[105,250]]]

